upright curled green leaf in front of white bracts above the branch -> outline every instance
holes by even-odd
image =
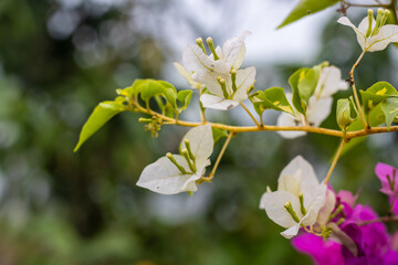
[[[310,97],[314,94],[320,80],[321,67],[300,68],[289,78],[289,84],[293,89],[293,106],[305,115]]]

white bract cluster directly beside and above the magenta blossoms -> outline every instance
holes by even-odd
[[[301,210],[300,197],[303,198],[305,214]],[[285,209],[289,202],[298,222]],[[301,156],[294,158],[281,172],[277,190],[262,195],[260,209],[264,209],[269,218],[285,227],[281,234],[291,239],[298,233],[301,226],[326,224],[334,210],[335,195],[327,192],[327,187],[320,183],[313,167]]]

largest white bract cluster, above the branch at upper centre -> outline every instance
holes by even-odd
[[[199,45],[190,45],[182,54],[184,66],[175,63],[178,72],[192,88],[199,88],[201,85],[207,87],[209,94],[200,96],[203,107],[228,110],[248,98],[248,91],[255,82],[255,67],[240,68],[245,54],[244,39],[248,35],[250,32],[244,31],[239,36],[226,41],[222,49],[217,46],[217,60],[213,54],[206,54]],[[232,78],[233,71],[235,80]],[[223,92],[220,80],[224,81],[228,95]]]

